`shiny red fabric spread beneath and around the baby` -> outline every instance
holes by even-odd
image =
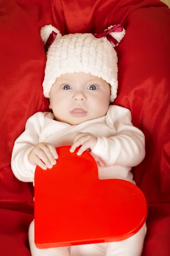
[[[0,255],[29,256],[32,184],[17,180],[10,161],[26,120],[48,110],[42,93],[45,54],[39,29],[101,32],[123,23],[115,104],[132,111],[146,136],[146,157],[133,172],[149,215],[143,256],[170,252],[170,9],[158,0],[0,1]]]

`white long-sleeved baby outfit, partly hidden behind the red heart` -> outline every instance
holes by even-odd
[[[29,163],[28,154],[37,143],[51,143],[55,147],[72,145],[76,132],[89,132],[98,138],[91,151],[98,165],[99,179],[119,178],[134,182],[130,172],[145,156],[144,134],[131,122],[127,108],[109,106],[107,114],[100,118],[69,125],[58,122],[50,112],[38,112],[26,122],[26,129],[14,143],[12,171],[17,179],[34,182],[35,167]],[[34,221],[29,228],[32,256],[140,256],[146,224],[129,239],[103,243],[37,249],[34,243]]]

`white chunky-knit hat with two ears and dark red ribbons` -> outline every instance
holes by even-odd
[[[52,85],[61,75],[83,72],[107,81],[111,85],[110,101],[113,102],[118,89],[118,58],[113,47],[124,34],[120,24],[110,26],[100,35],[76,33],[63,36],[52,25],[43,26],[40,35],[44,44],[49,46],[43,81],[44,96],[49,98]]]

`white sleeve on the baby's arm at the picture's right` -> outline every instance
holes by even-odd
[[[113,105],[108,111],[106,122],[115,129],[115,136],[97,137],[92,156],[102,167],[138,165],[145,156],[144,134],[133,126],[127,108]]]

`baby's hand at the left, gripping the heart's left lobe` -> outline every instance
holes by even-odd
[[[43,170],[52,168],[57,162],[58,154],[55,147],[49,143],[38,143],[28,155],[29,163],[38,165]]]

